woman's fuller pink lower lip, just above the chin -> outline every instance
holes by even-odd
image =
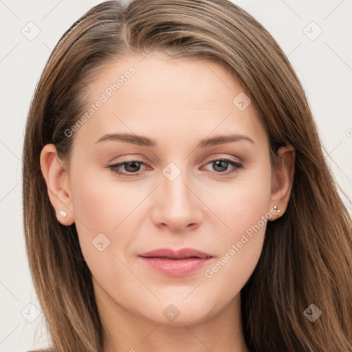
[[[168,258],[158,258],[151,257],[146,258],[141,256],[148,265],[153,267],[159,272],[162,272],[169,276],[185,276],[195,270],[200,269],[211,259],[211,257],[207,258],[185,258],[185,259],[168,259]]]

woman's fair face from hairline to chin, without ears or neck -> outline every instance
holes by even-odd
[[[157,54],[105,67],[87,102],[67,131],[67,182],[99,300],[163,324],[218,314],[256,267],[275,205],[254,104],[221,66]]]

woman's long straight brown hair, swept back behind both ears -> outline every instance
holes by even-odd
[[[104,330],[75,225],[63,226],[39,164],[45,144],[69,159],[69,129],[103,65],[157,50],[228,69],[256,104],[272,155],[296,149],[292,195],[267,224],[263,252],[241,290],[248,349],[352,350],[352,221],[325,161],[305,92],[272,36],[227,0],[107,1],[91,8],[58,42],[36,87],[23,149],[25,241],[34,286],[54,351],[98,352]],[[322,316],[303,312],[314,303]]]

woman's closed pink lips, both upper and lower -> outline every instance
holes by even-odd
[[[182,248],[177,251],[160,248],[139,256],[153,269],[168,276],[186,276],[199,270],[212,258],[210,254],[193,248]]]

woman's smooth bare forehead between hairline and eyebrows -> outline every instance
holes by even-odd
[[[234,76],[199,58],[120,58],[98,72],[86,100],[83,113],[90,109],[91,114],[77,137],[83,130],[97,137],[116,130],[164,138],[229,130],[265,134],[258,111]]]

